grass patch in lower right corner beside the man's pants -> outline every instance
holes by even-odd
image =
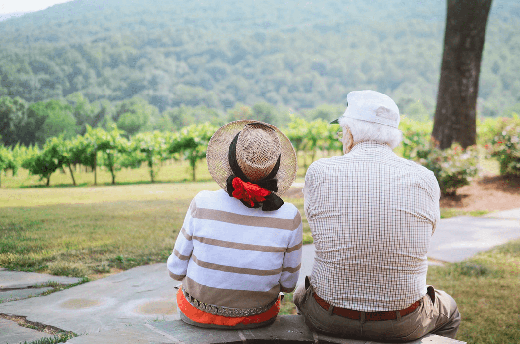
[[[462,314],[457,339],[469,344],[520,342],[520,240],[462,263],[432,266],[428,284],[457,301]]]

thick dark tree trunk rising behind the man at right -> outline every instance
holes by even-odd
[[[432,135],[439,148],[476,143],[478,75],[492,0],[447,0]]]

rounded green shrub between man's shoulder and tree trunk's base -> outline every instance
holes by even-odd
[[[435,174],[443,195],[455,195],[457,189],[469,185],[478,172],[476,146],[463,149],[455,143],[441,150],[430,143],[418,148],[417,157],[422,166]]]

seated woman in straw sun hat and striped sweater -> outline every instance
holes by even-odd
[[[280,198],[296,174],[294,148],[278,128],[239,120],[217,130],[206,161],[222,190],[192,200],[167,261],[183,282],[180,319],[209,328],[268,325],[300,271],[302,219]]]

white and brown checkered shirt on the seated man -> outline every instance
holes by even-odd
[[[372,312],[426,294],[426,253],[440,219],[432,171],[362,142],[311,164],[303,193],[316,245],[311,284],[321,298]]]

